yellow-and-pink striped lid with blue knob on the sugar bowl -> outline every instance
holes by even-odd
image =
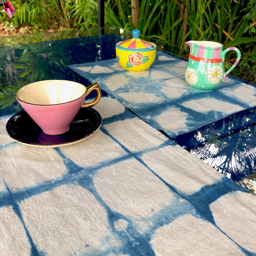
[[[148,51],[150,49],[156,48],[156,45],[153,45],[147,41],[143,41],[140,38],[140,30],[134,29],[132,30],[132,39],[128,39],[116,44],[116,47],[122,50],[140,50],[140,51]]]

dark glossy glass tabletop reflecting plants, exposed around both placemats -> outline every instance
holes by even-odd
[[[73,72],[68,65],[116,58],[116,43],[128,38],[132,38],[132,33],[119,28],[0,38],[0,115],[21,110],[16,102],[15,92],[28,83],[65,79],[88,85],[89,81]],[[141,39],[154,42],[158,50],[188,59],[188,49],[154,38],[141,36]],[[236,67],[233,74],[241,69]],[[255,76],[255,72],[243,70],[247,74],[245,79]],[[106,93],[103,92],[104,95]],[[236,113],[197,131],[179,135],[173,140],[217,171],[245,186],[241,180],[255,172],[255,111],[256,108],[252,108]],[[256,188],[250,191],[255,192]]]

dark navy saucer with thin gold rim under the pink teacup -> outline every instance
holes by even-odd
[[[20,143],[34,147],[60,147],[88,138],[102,123],[100,114],[93,108],[81,108],[69,130],[59,135],[45,134],[25,110],[13,115],[6,124],[8,135]]]

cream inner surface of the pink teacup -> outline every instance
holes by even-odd
[[[44,80],[20,88],[18,100],[35,105],[55,105],[76,100],[84,95],[86,87],[67,80]]]

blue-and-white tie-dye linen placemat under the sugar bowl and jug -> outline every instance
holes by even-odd
[[[256,88],[227,77],[211,92],[198,92],[185,81],[186,61],[157,52],[151,68],[129,72],[116,59],[69,68],[112,94],[145,122],[169,136],[194,131],[256,106]]]

